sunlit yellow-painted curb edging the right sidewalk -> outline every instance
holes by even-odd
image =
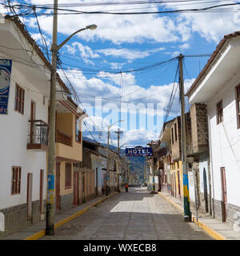
[[[184,210],[181,206],[178,206],[178,204],[174,203],[170,198],[167,198],[165,194],[162,194],[161,192],[158,192],[163,198],[165,198],[168,202],[170,202],[175,208],[178,208],[182,213],[184,213]],[[202,222],[197,222],[197,219],[192,216],[192,222],[194,222],[196,225],[198,225],[202,230],[204,230],[207,234],[209,234],[212,238],[215,240],[227,240],[222,236],[222,234],[218,234],[217,231],[211,229],[209,226],[206,226],[206,224]]]

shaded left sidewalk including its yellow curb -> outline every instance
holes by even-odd
[[[70,210],[66,210],[64,212],[59,212],[55,215],[55,225],[54,228],[57,229],[59,226],[70,222],[72,219],[84,214],[90,207],[98,205],[98,203],[103,202],[107,198],[110,198],[118,194],[118,192],[113,192],[108,196],[98,196],[98,198],[94,198],[86,203],[83,203],[81,206],[76,206]],[[0,238],[0,240],[37,240],[42,238],[45,235],[45,220],[42,222],[38,222],[34,225],[28,226],[23,230],[19,230],[14,234],[10,234],[6,237]]]

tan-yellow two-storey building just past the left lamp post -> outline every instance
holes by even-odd
[[[78,205],[79,175],[73,164],[82,162],[82,118],[86,115],[71,100],[56,103],[56,210],[68,210]]]

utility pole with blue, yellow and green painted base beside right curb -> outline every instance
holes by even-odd
[[[182,139],[182,172],[183,172],[183,197],[184,197],[184,220],[186,222],[191,221],[190,212],[190,196],[189,196],[189,181],[187,171],[187,158],[186,158],[186,121],[185,121],[185,94],[184,94],[184,80],[182,59],[184,56],[180,54],[178,56],[179,62],[179,92],[181,99],[181,139]]]

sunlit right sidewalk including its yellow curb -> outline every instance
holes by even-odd
[[[172,197],[166,192],[158,192],[163,198],[166,198],[173,206],[179,211],[184,212],[182,202],[178,198]],[[240,240],[240,231],[234,231],[234,229],[227,223],[218,221],[216,218],[212,218],[210,215],[199,213],[198,222],[194,216],[194,210],[192,210],[192,222],[195,222],[202,230],[205,230],[212,238],[216,240]]]

